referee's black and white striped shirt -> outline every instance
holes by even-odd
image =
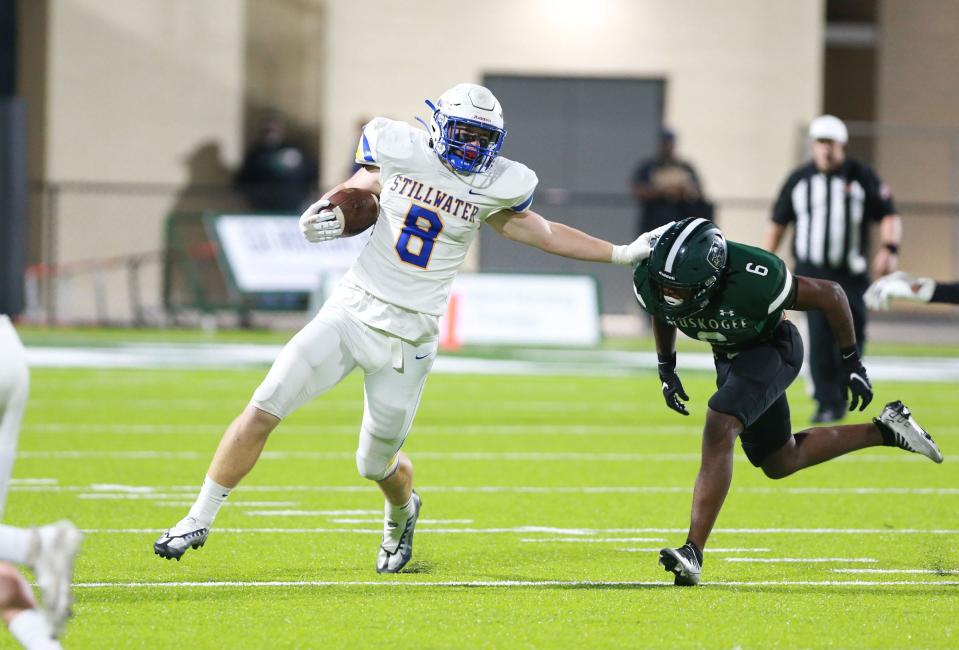
[[[869,225],[896,214],[889,188],[869,165],[846,159],[823,173],[813,163],[783,185],[772,219],[795,224],[797,270],[816,268],[853,276],[868,270]]]

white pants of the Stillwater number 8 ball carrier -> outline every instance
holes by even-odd
[[[423,394],[436,340],[392,337],[327,302],[280,352],[251,404],[282,419],[340,383],[354,368],[366,374],[356,468],[372,481],[390,476]]]

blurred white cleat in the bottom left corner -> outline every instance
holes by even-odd
[[[37,546],[30,568],[40,587],[43,611],[58,637],[73,613],[73,567],[83,535],[65,520],[35,530]]]

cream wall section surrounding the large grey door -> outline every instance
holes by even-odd
[[[731,236],[755,242],[796,163],[797,129],[821,104],[819,0],[488,0],[488,20],[466,19],[443,0],[415,7],[328,3],[326,183],[339,180],[336,161],[353,152],[359,116],[426,116],[423,99],[459,81],[486,73],[664,78],[667,120],[707,191],[758,202],[722,213]]]

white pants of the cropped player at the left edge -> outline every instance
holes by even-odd
[[[10,319],[0,314],[0,519],[7,503],[7,486],[13,471],[20,435],[20,420],[27,407],[30,373],[27,355]]]

